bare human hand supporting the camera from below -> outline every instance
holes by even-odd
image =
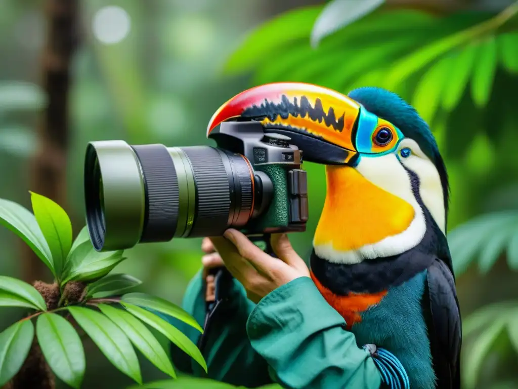
[[[248,298],[256,303],[279,286],[298,277],[309,277],[306,263],[294,251],[286,234],[271,235],[271,246],[278,258],[266,254],[234,229],[227,230],[224,238],[210,238],[210,241],[219,255],[212,253],[213,247],[204,240],[202,248],[210,253],[202,259],[204,269],[224,264],[247,290]]]

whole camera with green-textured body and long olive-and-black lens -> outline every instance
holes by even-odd
[[[85,158],[87,225],[98,251],[227,228],[253,235],[304,231],[302,151],[259,122],[224,122],[217,147],[91,142]]]

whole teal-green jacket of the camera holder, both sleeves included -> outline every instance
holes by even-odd
[[[224,306],[211,318],[202,353],[208,375],[172,346],[176,367],[197,377],[256,387],[378,389],[380,373],[368,351],[358,347],[344,319],[324,300],[309,277],[300,277],[250,301],[242,285],[233,286]],[[189,284],[183,308],[200,325],[205,321],[202,276]],[[197,343],[199,332],[171,319]]]

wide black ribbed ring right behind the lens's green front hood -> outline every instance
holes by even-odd
[[[178,178],[164,145],[132,146],[142,166],[146,213],[141,243],[168,242],[178,223]]]

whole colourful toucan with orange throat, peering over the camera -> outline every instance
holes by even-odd
[[[459,388],[461,315],[446,239],[449,183],[428,124],[397,94],[276,82],[214,113],[287,134],[325,164],[310,274],[389,387]],[[310,177],[311,178],[311,177]],[[384,362],[383,362],[384,361]]]

